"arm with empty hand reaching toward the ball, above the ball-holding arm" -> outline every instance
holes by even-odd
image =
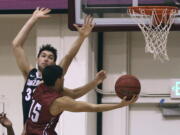
[[[90,90],[94,89],[97,85],[102,83],[105,78],[106,78],[106,72],[104,70],[101,70],[96,74],[96,77],[94,80],[92,80],[90,83],[82,87],[71,89],[71,90],[64,88],[63,95],[69,96],[73,99],[77,99],[85,95],[86,93],[88,93]]]

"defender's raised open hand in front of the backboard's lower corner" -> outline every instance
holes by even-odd
[[[74,27],[79,32],[80,36],[87,37],[91,33],[92,29],[94,28],[93,18],[90,15],[87,15],[84,19],[84,24],[82,27],[74,24]]]

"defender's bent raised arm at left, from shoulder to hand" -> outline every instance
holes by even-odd
[[[37,8],[12,41],[13,53],[24,78],[27,78],[29,71],[32,69],[32,66],[29,64],[24,52],[24,42],[26,41],[29,32],[31,31],[37,20],[39,18],[49,17],[49,15],[47,14],[50,11],[51,10],[48,8]]]

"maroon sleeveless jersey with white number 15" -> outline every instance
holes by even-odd
[[[57,91],[44,84],[40,84],[36,88],[26,122],[27,135],[56,135],[55,127],[60,114],[58,116],[51,115],[49,107],[56,98],[61,96]]]

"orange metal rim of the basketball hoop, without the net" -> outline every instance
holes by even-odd
[[[144,14],[146,15],[152,15],[152,11],[156,11],[157,15],[162,15],[162,13],[166,10],[166,13],[170,15],[172,11],[174,13],[178,12],[177,7],[173,6],[136,6],[136,7],[129,7],[128,8],[130,13],[137,13],[137,14],[142,14],[141,10],[143,10]]]

